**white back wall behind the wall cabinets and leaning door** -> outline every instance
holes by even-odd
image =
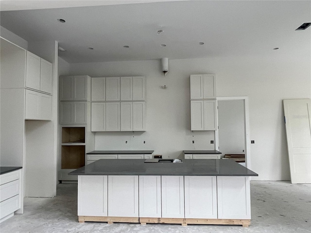
[[[253,57],[170,59],[166,77],[160,72],[160,61],[70,67],[72,74],[91,77],[144,75],[147,79],[147,132],[96,133],[96,150],[150,149],[166,157],[181,156],[182,150],[212,150],[212,132],[190,131],[189,76],[215,73],[217,96],[249,97],[250,138],[255,140],[251,168],[259,174],[253,180],[290,180],[282,100],[311,98],[310,66],[310,52],[271,50]]]

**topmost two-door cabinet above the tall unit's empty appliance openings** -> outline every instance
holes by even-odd
[[[87,75],[60,76],[59,100],[89,100],[91,96],[90,82],[91,78]]]

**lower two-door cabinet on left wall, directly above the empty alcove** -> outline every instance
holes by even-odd
[[[51,120],[52,96],[26,89],[25,94],[26,120]]]

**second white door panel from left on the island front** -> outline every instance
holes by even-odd
[[[108,176],[108,216],[138,217],[138,176]]]

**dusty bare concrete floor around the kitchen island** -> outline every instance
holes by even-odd
[[[77,185],[58,184],[55,198],[25,198],[24,214],[0,225],[1,233],[311,233],[311,185],[251,182],[248,228],[188,225],[78,223]]]

